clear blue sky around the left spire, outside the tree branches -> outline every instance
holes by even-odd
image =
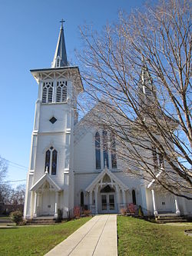
[[[74,48],[81,48],[79,25],[98,31],[115,22],[118,11],[131,12],[142,0],[0,0],[0,155],[28,167],[31,131],[38,85],[30,69],[50,68],[59,21],[65,19],[68,60],[75,64]],[[5,180],[22,180],[27,168],[10,163]],[[20,185],[25,181],[11,183]]]

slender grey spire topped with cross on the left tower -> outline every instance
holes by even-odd
[[[55,50],[53,62],[51,63],[51,68],[61,68],[68,65],[67,53],[65,48],[64,30],[63,30],[64,22],[65,21],[61,19],[61,28],[58,35],[58,44]]]

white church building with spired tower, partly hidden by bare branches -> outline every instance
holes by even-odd
[[[57,218],[58,209],[68,218],[75,206],[93,214],[118,213],[129,204],[141,205],[145,215],[192,214],[190,201],[125,174],[118,156],[102,146],[107,131],[80,125],[74,105],[84,87],[79,68],[68,65],[62,22],[51,68],[34,69],[31,74],[38,83],[38,99],[25,218]]]

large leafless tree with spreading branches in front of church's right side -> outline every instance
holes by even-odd
[[[123,12],[98,34],[81,28],[87,125],[115,135],[132,175],[192,199],[191,2]],[[85,99],[85,100],[84,100]],[[83,103],[82,103],[83,101]],[[85,104],[88,103],[88,104]]]

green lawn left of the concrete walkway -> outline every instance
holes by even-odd
[[[0,255],[44,255],[90,218],[45,227],[0,228]]]

